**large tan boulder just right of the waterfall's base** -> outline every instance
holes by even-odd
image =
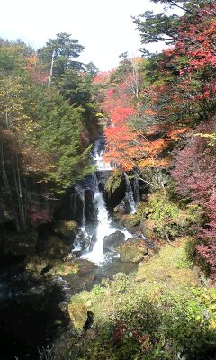
[[[143,239],[129,238],[117,250],[120,254],[120,260],[123,262],[139,263],[148,257],[148,247]]]

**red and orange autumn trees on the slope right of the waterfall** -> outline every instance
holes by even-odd
[[[143,28],[137,24],[147,39],[148,21]],[[123,58],[110,81],[107,73],[100,75],[106,84],[102,108],[111,119],[104,159],[142,178],[146,168],[172,175],[178,197],[200,206],[203,227],[195,250],[214,276],[216,5],[189,10],[170,33],[172,47],[161,54],[139,62]]]

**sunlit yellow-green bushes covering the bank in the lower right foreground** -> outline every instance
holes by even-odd
[[[166,245],[135,275],[72,297],[94,313],[94,338],[84,335],[82,360],[206,360],[216,350],[216,292],[200,287],[185,239]]]

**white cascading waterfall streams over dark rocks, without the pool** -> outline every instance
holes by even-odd
[[[103,238],[111,234],[114,234],[117,230],[120,230],[124,236],[125,240],[133,237],[132,234],[127,229],[120,228],[113,223],[113,220],[109,214],[109,211],[106,208],[106,204],[103,198],[103,192],[99,186],[100,173],[111,172],[113,170],[111,164],[103,162],[103,137],[99,137],[95,141],[94,149],[92,152],[92,158],[97,166],[97,171],[93,175],[89,176],[87,181],[83,186],[76,186],[76,192],[79,193],[79,196],[83,202],[82,209],[82,225],[80,227],[79,234],[75,240],[75,248],[73,252],[80,251],[82,249],[82,244],[80,239],[85,242],[87,240],[88,245],[85,247],[85,250],[81,254],[81,258],[87,259],[94,262],[94,264],[101,264],[106,259],[107,256],[103,253]],[[130,185],[130,180],[128,175],[125,174],[126,180],[126,198],[130,204],[130,213],[136,211],[136,204],[133,198],[133,192]],[[95,216],[95,226],[94,229],[92,226],[88,226],[85,213],[85,191],[91,190],[94,193],[94,216]]]

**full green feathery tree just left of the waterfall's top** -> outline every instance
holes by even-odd
[[[53,190],[60,193],[93,171],[88,159],[91,146],[83,141],[83,108],[67,102],[53,86],[34,86],[29,111],[37,123],[35,145],[51,160],[44,175],[53,183]]]

